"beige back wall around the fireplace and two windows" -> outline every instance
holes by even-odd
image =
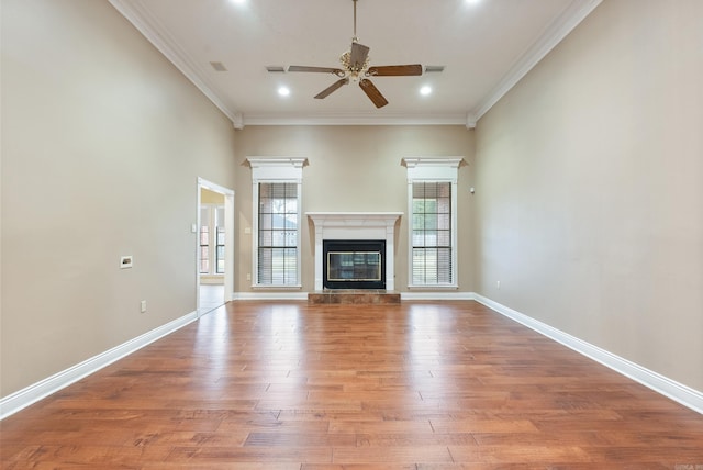
[[[459,291],[472,289],[473,131],[466,126],[247,126],[237,131],[236,290],[250,291],[252,170],[246,157],[306,157],[303,212],[403,212],[395,245],[395,289],[408,290],[408,178],[403,157],[462,156],[458,180]],[[301,233],[302,291],[314,290],[314,239],[306,217]],[[313,233],[314,234],[314,233]]]

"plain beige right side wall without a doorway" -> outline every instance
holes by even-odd
[[[476,290],[698,390],[701,19],[603,1],[480,120],[476,161]]]

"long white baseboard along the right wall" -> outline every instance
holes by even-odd
[[[554,328],[538,320],[532,318],[523,313],[512,310],[505,305],[494,302],[483,295],[473,294],[473,299],[495,312],[527,326],[535,332],[554,339],[577,352],[589,357],[603,366],[622,373],[623,376],[641,383],[643,385],[665,395],[669,399],[703,414],[703,392],[691,389],[682,383],[663,377],[657,372],[646,369],[635,362],[624,359],[617,355],[601,349],[590,343]]]

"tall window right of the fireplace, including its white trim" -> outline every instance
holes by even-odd
[[[456,288],[457,169],[462,158],[404,158],[410,213],[409,287]]]

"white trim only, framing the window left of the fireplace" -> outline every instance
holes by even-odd
[[[302,265],[302,180],[303,167],[308,164],[304,157],[247,157],[252,167],[252,288],[256,289],[301,289]],[[258,283],[259,253],[259,183],[294,182],[298,184],[298,270],[295,284],[260,284]]]

